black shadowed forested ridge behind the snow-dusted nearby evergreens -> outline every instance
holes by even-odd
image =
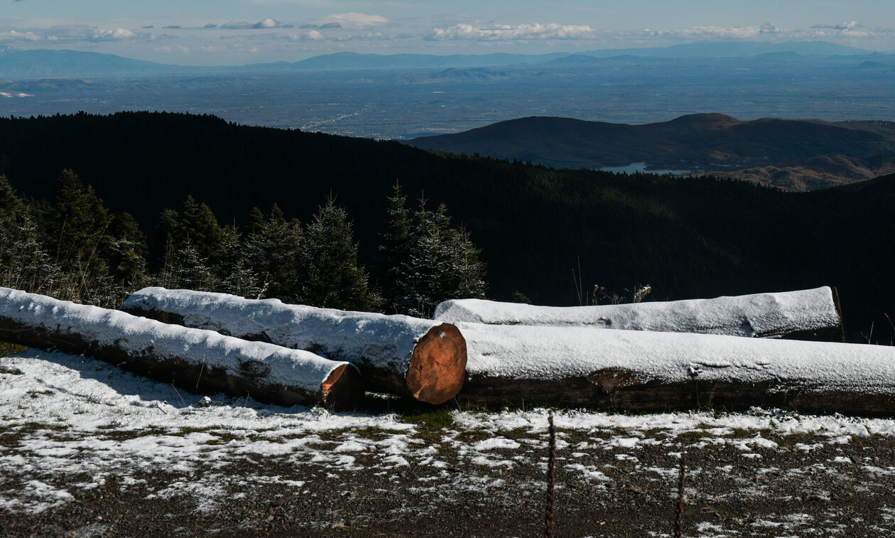
[[[488,295],[576,304],[599,284],[650,284],[654,299],[839,286],[851,339],[889,343],[895,317],[895,175],[817,192],[714,178],[555,170],[456,158],[388,141],[122,113],[0,120],[0,174],[48,199],[61,171],[152,235],[187,195],[222,223],[276,202],[308,222],[331,192],[354,220],[376,281],[376,245],[396,182],[447,203],[482,249]],[[413,204],[411,204],[413,205]],[[581,286],[575,285],[580,267]],[[381,268],[380,268],[381,269]],[[574,273],[574,274],[573,274]],[[884,337],[882,335],[885,335]]]

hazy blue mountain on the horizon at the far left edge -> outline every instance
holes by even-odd
[[[189,69],[96,52],[0,49],[0,78],[4,79],[184,73]]]

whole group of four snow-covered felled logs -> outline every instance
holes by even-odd
[[[464,300],[439,307],[440,320],[149,287],[123,310],[3,290],[0,339],[125,357],[158,379],[201,378],[205,389],[285,405],[356,405],[362,385],[436,405],[895,414],[895,347],[788,339],[841,339],[829,287],[618,305],[596,316]],[[637,330],[616,329],[628,322]]]

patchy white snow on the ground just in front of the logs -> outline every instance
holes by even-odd
[[[251,398],[222,395],[210,397],[212,405],[200,406],[202,399],[90,358],[34,350],[0,358],[0,436],[4,436],[0,510],[38,514],[69,502],[72,492],[98,488],[113,476],[125,487],[146,484],[141,474],[170,471],[193,477],[189,482],[183,478],[167,482],[149,495],[183,496],[197,510],[209,510],[222,500],[224,486],[232,485],[227,465],[244,458],[289,457],[320,469],[320,474],[306,480],[288,481],[295,488],[360,469],[400,477],[406,469],[425,467],[447,486],[418,483],[438,487],[447,500],[476,488],[500,491],[500,474],[512,472],[523,462],[537,462],[546,470],[550,414],[546,409],[455,411],[449,428],[424,440],[419,437],[422,426],[398,414],[330,413],[320,407],[266,406]],[[667,447],[669,456],[677,458],[682,449],[694,449],[688,448],[695,445],[693,440],[711,441],[748,458],[785,449],[768,439],[771,434],[774,439],[814,436],[814,443],[794,444],[797,450],[838,447],[853,436],[895,435],[893,420],[763,409],[745,414],[625,415],[575,410],[553,414],[560,449],[558,472],[564,480],[580,480],[593,488],[606,488],[613,467],[622,464],[637,465],[657,480],[674,482],[677,467],[637,461],[632,454],[642,445]],[[574,443],[567,441],[571,431],[575,431]],[[454,459],[448,460],[447,455]],[[451,470],[450,465],[456,464],[447,462],[456,458],[472,464],[476,474]],[[756,464],[762,461],[754,459]],[[847,463],[836,458],[829,470],[813,468],[837,472]],[[874,474],[895,473],[891,467],[860,465]],[[215,472],[194,473],[209,466]],[[718,465],[711,471],[731,469],[732,465]],[[17,477],[19,482],[8,477]],[[245,487],[277,480],[275,473],[258,476]],[[541,491],[541,482],[533,481],[531,490],[524,494]]]

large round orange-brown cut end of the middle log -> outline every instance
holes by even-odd
[[[455,397],[466,378],[466,340],[450,323],[429,329],[413,348],[407,388],[418,401],[439,405]]]

